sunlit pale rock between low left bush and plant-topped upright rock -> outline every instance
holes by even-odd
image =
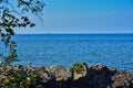
[[[42,82],[49,81],[66,81],[72,79],[72,73],[69,68],[63,66],[50,66],[50,67],[35,67],[40,75]]]

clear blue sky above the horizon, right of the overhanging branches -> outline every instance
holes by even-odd
[[[42,24],[17,33],[133,33],[133,0],[44,0]]]

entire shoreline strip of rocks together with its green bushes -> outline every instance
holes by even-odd
[[[0,88],[133,88],[133,73],[105,65],[0,66]]]

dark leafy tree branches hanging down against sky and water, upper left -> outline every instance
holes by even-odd
[[[11,65],[18,57],[16,50],[17,43],[11,38],[14,35],[13,29],[35,26],[30,21],[30,18],[24,15],[24,12],[32,13],[40,19],[40,14],[45,6],[42,0],[14,0],[13,3],[10,1],[0,0],[0,36],[1,42],[9,50],[3,65]]]

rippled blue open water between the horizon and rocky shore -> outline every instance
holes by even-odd
[[[18,34],[18,64],[63,65],[75,62],[133,72],[133,34]]]

